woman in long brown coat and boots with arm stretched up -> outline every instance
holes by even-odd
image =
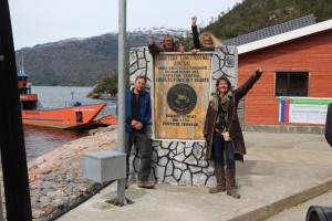
[[[227,194],[236,199],[240,198],[235,187],[235,160],[243,161],[243,155],[247,152],[237,108],[240,99],[261,74],[258,69],[242,86],[235,91],[231,91],[231,84],[226,76],[220,76],[216,82],[216,93],[209,102],[204,125],[204,137],[207,143],[206,159],[215,161],[217,180],[217,186],[209,189],[210,193],[227,191]],[[225,137],[222,134],[226,134]],[[224,152],[226,152],[226,164]],[[225,166],[227,166],[226,176]]]

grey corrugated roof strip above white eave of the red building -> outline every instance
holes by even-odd
[[[270,36],[274,36],[278,34],[282,34],[292,30],[297,30],[303,27],[308,27],[315,23],[315,18],[313,14],[309,14],[299,19],[294,19],[281,24],[277,24],[273,27],[264,28],[248,34],[243,34],[237,38],[232,38],[229,40],[226,40],[224,42],[225,45],[242,45],[248,44],[250,42],[259,41],[262,39],[267,39]]]

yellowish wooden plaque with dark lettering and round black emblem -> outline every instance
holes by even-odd
[[[155,138],[204,140],[211,56],[211,53],[164,53],[155,56]]]

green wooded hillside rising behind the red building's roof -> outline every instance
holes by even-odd
[[[220,12],[203,30],[227,40],[308,14],[313,14],[317,22],[332,19],[332,1],[243,0],[229,12]]]

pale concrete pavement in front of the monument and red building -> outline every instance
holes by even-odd
[[[59,220],[267,220],[332,190],[332,148],[323,135],[245,131],[245,164],[237,162],[241,199],[206,187],[158,183],[148,190],[134,183],[126,190],[134,203],[115,207],[106,202],[116,197],[114,182]]]

